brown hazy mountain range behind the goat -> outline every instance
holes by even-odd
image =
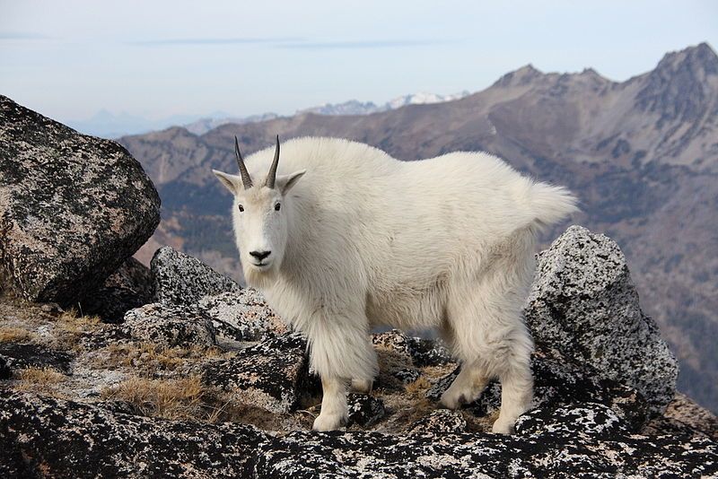
[[[718,411],[718,56],[707,44],[620,83],[526,65],[457,100],[123,137],[162,197],[139,257],[169,244],[239,277],[231,198],[211,170],[237,169],[234,135],[250,154],[277,134],[346,137],[405,161],[481,150],[570,187],[582,207],[574,222],[625,251],[644,310],[679,357],[679,388]]]

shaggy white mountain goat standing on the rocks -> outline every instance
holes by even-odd
[[[436,327],[461,361],[456,409],[501,381],[495,432],[530,407],[533,341],[521,317],[537,231],[576,210],[562,187],[485,152],[398,161],[366,144],[305,137],[214,171],[234,195],[247,283],[306,335],[324,396],[317,431],[347,418],[346,390],[378,373],[372,327]],[[277,166],[278,165],[278,166]],[[268,173],[267,173],[268,171]],[[301,179],[301,180],[300,180]]]

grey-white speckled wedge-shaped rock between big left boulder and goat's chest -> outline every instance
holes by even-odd
[[[241,291],[232,278],[169,246],[155,251],[150,268],[154,297],[159,302],[191,305],[209,294]]]

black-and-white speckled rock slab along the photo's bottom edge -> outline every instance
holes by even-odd
[[[38,415],[38,412],[41,414]],[[294,431],[110,413],[0,390],[6,477],[708,477],[718,446],[628,434],[602,406],[537,409],[513,436]],[[20,474],[19,474],[20,473]]]

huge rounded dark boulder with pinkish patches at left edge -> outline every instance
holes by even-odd
[[[130,154],[0,96],[0,284],[69,304],[96,288],[160,222]]]

